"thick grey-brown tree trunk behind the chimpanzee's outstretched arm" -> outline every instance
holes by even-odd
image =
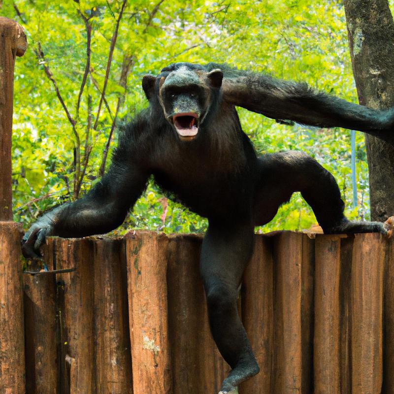
[[[343,0],[350,56],[360,104],[394,105],[394,22],[387,0]],[[393,130],[394,132],[394,130]],[[371,220],[394,214],[394,149],[365,134]]]

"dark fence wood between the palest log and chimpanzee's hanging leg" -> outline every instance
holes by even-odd
[[[199,274],[201,236],[175,235],[168,244],[168,335],[172,394],[218,392],[230,372],[212,339]]]

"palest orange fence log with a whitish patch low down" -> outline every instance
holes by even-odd
[[[171,390],[167,317],[167,244],[164,234],[126,238],[134,394]]]

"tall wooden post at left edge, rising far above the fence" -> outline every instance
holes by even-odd
[[[25,393],[21,227],[12,221],[11,134],[15,56],[27,47],[23,29],[0,17],[0,393]]]

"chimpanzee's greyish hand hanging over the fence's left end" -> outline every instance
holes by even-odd
[[[53,234],[54,212],[48,212],[39,218],[26,232],[22,239],[22,254],[27,259],[41,257],[40,247],[45,243],[45,238]]]

